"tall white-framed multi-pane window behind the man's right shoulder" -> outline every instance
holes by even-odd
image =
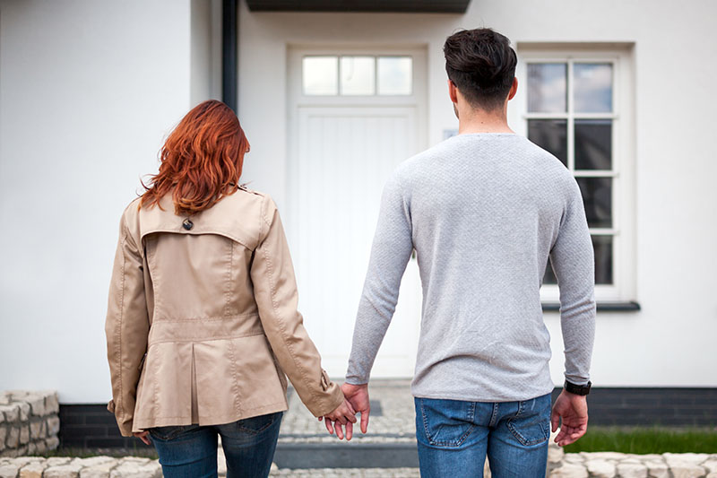
[[[618,95],[629,87],[628,53],[519,47],[524,134],[574,174],[595,251],[596,298],[603,301],[634,299],[631,111],[620,102],[626,95]],[[543,284],[543,300],[557,300],[550,266]]]

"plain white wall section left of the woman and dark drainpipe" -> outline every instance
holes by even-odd
[[[0,3],[0,389],[110,397],[119,216],[190,91],[189,0]]]

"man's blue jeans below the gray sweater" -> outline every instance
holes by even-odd
[[[543,478],[548,462],[550,394],[524,402],[416,398],[422,478]]]

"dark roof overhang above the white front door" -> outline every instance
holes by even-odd
[[[471,0],[246,0],[252,12],[465,13]]]

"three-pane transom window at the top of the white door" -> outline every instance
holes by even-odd
[[[304,56],[307,96],[407,96],[413,92],[410,56]]]

